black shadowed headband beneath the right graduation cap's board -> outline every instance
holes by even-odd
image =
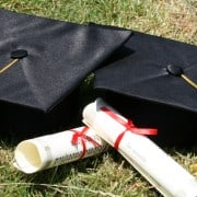
[[[102,92],[102,96],[137,127],[158,128],[158,135],[149,138],[159,146],[197,144],[196,113],[111,91]]]

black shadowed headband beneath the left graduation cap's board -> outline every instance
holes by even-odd
[[[0,102],[0,139],[21,141],[67,130],[79,123],[79,88],[66,100],[45,113],[16,104]]]

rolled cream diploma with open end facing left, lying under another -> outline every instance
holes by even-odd
[[[74,128],[74,131],[82,131],[84,127]],[[58,134],[46,135],[20,142],[14,150],[13,165],[26,173],[57,166],[79,160],[83,152],[83,146],[80,137],[78,143],[72,144],[71,140],[74,131],[66,130]],[[101,146],[95,146],[85,140],[85,154],[88,158],[103,152],[107,144],[92,129],[88,129],[85,136],[91,137]]]

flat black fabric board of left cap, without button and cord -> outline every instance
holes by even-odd
[[[47,112],[130,35],[0,10],[0,63],[27,56],[0,76],[0,100]]]

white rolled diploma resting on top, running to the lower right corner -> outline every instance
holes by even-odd
[[[93,128],[111,146],[125,130],[113,117],[101,108],[105,106],[121,117],[102,99],[89,104],[83,109],[83,121]],[[118,152],[138,170],[164,196],[195,197],[197,181],[175,160],[167,155],[149,138],[127,131],[121,139]]]

